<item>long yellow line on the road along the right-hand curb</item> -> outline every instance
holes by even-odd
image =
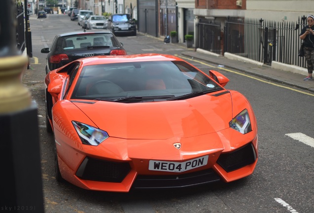
[[[197,62],[199,64],[206,65],[208,67],[212,67],[212,68],[215,68],[215,69],[220,69],[220,70],[224,70],[224,71],[227,71],[227,72],[232,72],[232,73],[235,73],[235,74],[238,74],[238,75],[242,75],[242,76],[245,76],[245,77],[248,77],[248,78],[252,78],[254,80],[258,80],[258,81],[261,81],[263,83],[268,83],[268,84],[271,84],[271,85],[274,85],[274,86],[277,86],[277,87],[281,87],[281,88],[285,88],[285,89],[288,89],[288,90],[292,90],[292,91],[295,91],[295,92],[298,92],[298,93],[302,93],[302,94],[305,94],[305,95],[314,96],[314,94],[303,92],[303,91],[297,90],[297,89],[293,89],[291,87],[279,85],[279,84],[276,84],[276,83],[273,83],[273,82],[269,82],[269,81],[266,81],[266,80],[263,80],[263,79],[260,79],[260,78],[257,78],[257,77],[253,77],[253,76],[247,75],[245,73],[232,71],[232,70],[229,70],[229,69],[226,69],[226,68],[215,67],[215,66],[209,65],[207,63],[204,63],[204,62],[201,62],[201,61],[198,61],[198,60],[195,60],[195,59],[187,58],[187,57],[184,57],[184,56],[179,56],[179,55],[175,55],[175,56],[183,58],[183,59],[186,59],[186,60],[194,61],[194,62]]]

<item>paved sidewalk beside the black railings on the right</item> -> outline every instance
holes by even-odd
[[[178,44],[182,45],[182,44]],[[279,69],[274,69],[271,66],[263,65],[262,63],[250,63],[228,59],[227,57],[217,55],[208,51],[197,49],[196,51],[191,49],[190,51],[182,52],[183,56],[191,57],[194,59],[199,59],[209,63],[223,65],[224,68],[234,69],[242,72],[249,73],[251,75],[256,75],[261,78],[272,80],[275,82],[283,83],[289,86],[295,86],[304,90],[309,90],[314,92],[314,80],[304,81],[303,78],[307,76],[307,71],[301,73],[292,72],[295,70],[295,66],[290,66],[291,71],[284,71]],[[244,59],[243,59],[244,60]],[[289,69],[289,65],[286,65],[284,69]],[[219,71],[219,68],[217,69]]]

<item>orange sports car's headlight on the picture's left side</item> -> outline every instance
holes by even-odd
[[[72,124],[83,144],[96,146],[109,138],[108,133],[103,130],[80,123],[78,121],[72,121]]]

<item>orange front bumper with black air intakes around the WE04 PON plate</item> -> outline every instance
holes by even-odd
[[[189,159],[194,159],[199,156],[208,155],[208,164],[199,168],[192,169],[190,171],[182,173],[174,172],[160,172],[160,171],[149,171],[148,164],[150,160],[158,160],[157,156],[160,154],[159,151],[154,149],[155,152],[143,153],[140,158],[137,154],[135,157],[135,148],[132,150],[132,146],[138,142],[129,142],[128,145],[123,145],[118,139],[113,139],[112,144],[119,147],[128,147],[128,156],[123,154],[123,150],[119,149],[119,154],[116,153],[114,157],[104,158],[97,155],[95,152],[90,152],[85,150],[73,149],[72,147],[63,151],[67,153],[68,156],[76,155],[77,160],[64,159],[64,157],[59,156],[59,167],[61,170],[62,177],[72,182],[73,184],[89,189],[89,190],[99,190],[99,191],[116,191],[116,192],[128,192],[133,188],[179,188],[188,187],[193,185],[205,184],[210,182],[215,182],[223,180],[225,182],[234,181],[236,179],[244,178],[253,173],[257,159],[258,159],[258,138],[256,132],[248,133],[245,135],[248,142],[243,142],[243,138],[240,139],[240,133],[235,130],[224,130],[220,134],[223,134],[223,142],[217,142],[213,146],[220,146],[219,144],[224,144],[221,147],[210,148],[208,150],[195,151],[192,153],[178,154],[174,156],[175,152],[169,152],[169,156],[163,156],[162,160],[184,162]],[[243,136],[243,135],[242,135]],[[217,133],[209,134],[204,136],[199,136],[196,141],[202,140],[204,138],[218,139]],[[231,139],[235,139],[234,143],[228,143]],[[117,140],[117,141],[115,141]],[[143,146],[145,142],[142,142]],[[151,146],[149,142],[146,142],[147,146]],[[172,145],[172,142],[170,142]],[[155,143],[154,143],[155,144]],[[234,144],[240,144],[239,147],[233,147]],[[106,144],[106,149],[114,152],[114,146],[111,144]],[[161,143],[158,146],[164,147]],[[88,148],[91,148],[90,146]],[[92,147],[95,148],[95,147]],[[99,148],[99,147],[98,147]],[[117,148],[117,147],[116,147]],[[75,153],[70,153],[74,151]],[[161,149],[162,150],[162,149]],[[175,149],[174,149],[175,150]],[[63,152],[62,151],[62,152]],[[98,153],[103,153],[102,150],[98,150]],[[177,151],[177,150],[176,150]],[[59,153],[59,151],[58,151]],[[136,152],[138,153],[138,152]],[[178,152],[179,153],[179,152]],[[62,153],[61,153],[62,155]],[[151,156],[151,157],[148,157]],[[75,161],[75,162],[74,162]]]

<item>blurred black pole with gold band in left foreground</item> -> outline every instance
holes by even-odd
[[[15,8],[1,0],[0,210],[44,213],[37,106],[21,82],[28,57],[16,47]]]

